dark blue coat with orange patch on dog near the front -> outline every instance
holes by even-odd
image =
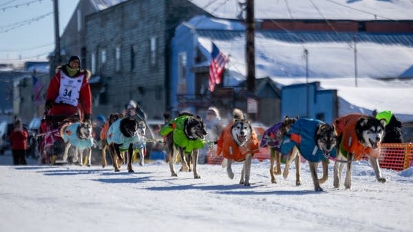
[[[299,118],[282,139],[282,143],[279,148],[281,154],[290,154],[294,146],[297,146],[299,153],[306,160],[310,162],[320,162],[321,160],[325,160],[326,154],[324,154],[324,151],[319,149],[314,138],[317,133],[317,127],[320,124],[326,123],[317,119]],[[336,157],[335,149],[330,151],[330,156],[332,158]]]

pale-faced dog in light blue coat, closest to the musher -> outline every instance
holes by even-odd
[[[61,128],[61,137],[65,141],[65,153],[63,154],[63,162],[67,160],[67,152],[71,146],[75,147],[73,162],[78,162],[79,165],[91,166],[91,156],[93,145],[92,127],[89,123],[72,123],[65,124]],[[87,156],[83,160],[83,150],[87,150]],[[80,160],[78,160],[80,156]]]

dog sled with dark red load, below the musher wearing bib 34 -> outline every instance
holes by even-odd
[[[63,165],[65,142],[61,137],[61,128],[67,123],[80,121],[79,116],[45,116],[39,129],[39,163],[44,165]],[[70,160],[69,160],[70,161]]]

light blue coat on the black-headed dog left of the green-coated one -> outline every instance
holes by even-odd
[[[122,132],[120,132],[120,121],[123,118],[119,118],[116,120],[112,125],[110,125],[109,129],[107,130],[106,140],[107,144],[116,143],[120,144],[120,149],[128,149],[131,143],[139,143],[142,140],[142,136],[139,136],[137,133],[130,138],[124,136]]]

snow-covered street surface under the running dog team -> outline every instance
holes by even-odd
[[[198,165],[193,173],[171,177],[169,165],[143,167],[36,165],[12,166],[10,151],[0,156],[0,231],[374,231],[408,232],[413,228],[413,168],[382,169],[384,184],[368,162],[354,162],[352,189],[332,187],[329,178],[315,192],[308,165],[271,183],[269,161],[253,160],[251,187],[238,184],[221,165]],[[180,165],[176,164],[175,169]],[[284,169],[284,165],[282,165]],[[343,174],[345,171],[343,171]],[[319,167],[321,175],[321,167]],[[343,176],[344,178],[344,176]],[[343,181],[343,178],[341,179]]]

